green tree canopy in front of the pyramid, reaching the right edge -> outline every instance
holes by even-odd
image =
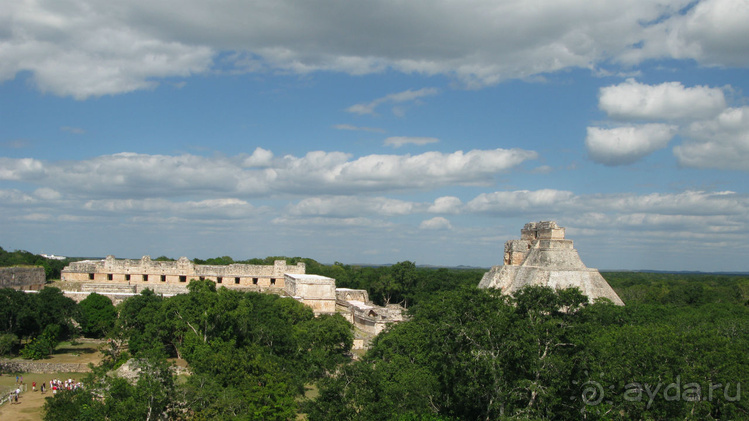
[[[742,304],[587,305],[575,289],[444,292],[321,379],[307,411],[310,420],[746,418],[748,316]]]

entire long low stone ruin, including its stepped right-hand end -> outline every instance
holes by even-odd
[[[197,265],[186,257],[176,261],[115,259],[72,262],[61,280],[75,284],[78,291],[66,295],[80,301],[91,292],[106,295],[115,303],[151,289],[158,294],[188,292],[193,279],[210,280],[217,287],[274,293],[293,297],[312,308],[315,315],[342,314],[365,340],[380,333],[389,323],[403,320],[400,306],[380,307],[369,301],[365,290],[336,288],[335,279],[306,273],[306,265]]]

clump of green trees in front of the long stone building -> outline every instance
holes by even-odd
[[[350,360],[352,327],[339,315],[315,317],[294,299],[216,289],[207,280],[188,288],[169,298],[145,290],[120,304],[104,366],[84,390],[49,400],[45,419],[180,419],[185,413],[196,420],[293,419],[304,385]],[[98,306],[91,308],[98,314]],[[184,381],[168,370],[169,356],[189,364]],[[106,375],[130,357],[145,367],[135,384]]]

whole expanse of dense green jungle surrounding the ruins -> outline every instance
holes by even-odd
[[[210,281],[117,307],[2,289],[0,352],[44,358],[60,340],[109,339],[84,389],[47,400],[47,420],[749,419],[749,276],[603,272],[619,307],[576,289],[480,290],[484,269],[285,259],[410,320],[355,357],[341,316]],[[177,357],[190,375],[170,370]],[[107,375],[131,358],[136,381]]]

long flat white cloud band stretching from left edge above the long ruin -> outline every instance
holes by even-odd
[[[0,179],[90,198],[340,195],[490,184],[496,175],[536,156],[523,149],[365,155],[357,159],[326,151],[275,158],[262,148],[249,157],[122,152],[82,161],[0,158]]]

